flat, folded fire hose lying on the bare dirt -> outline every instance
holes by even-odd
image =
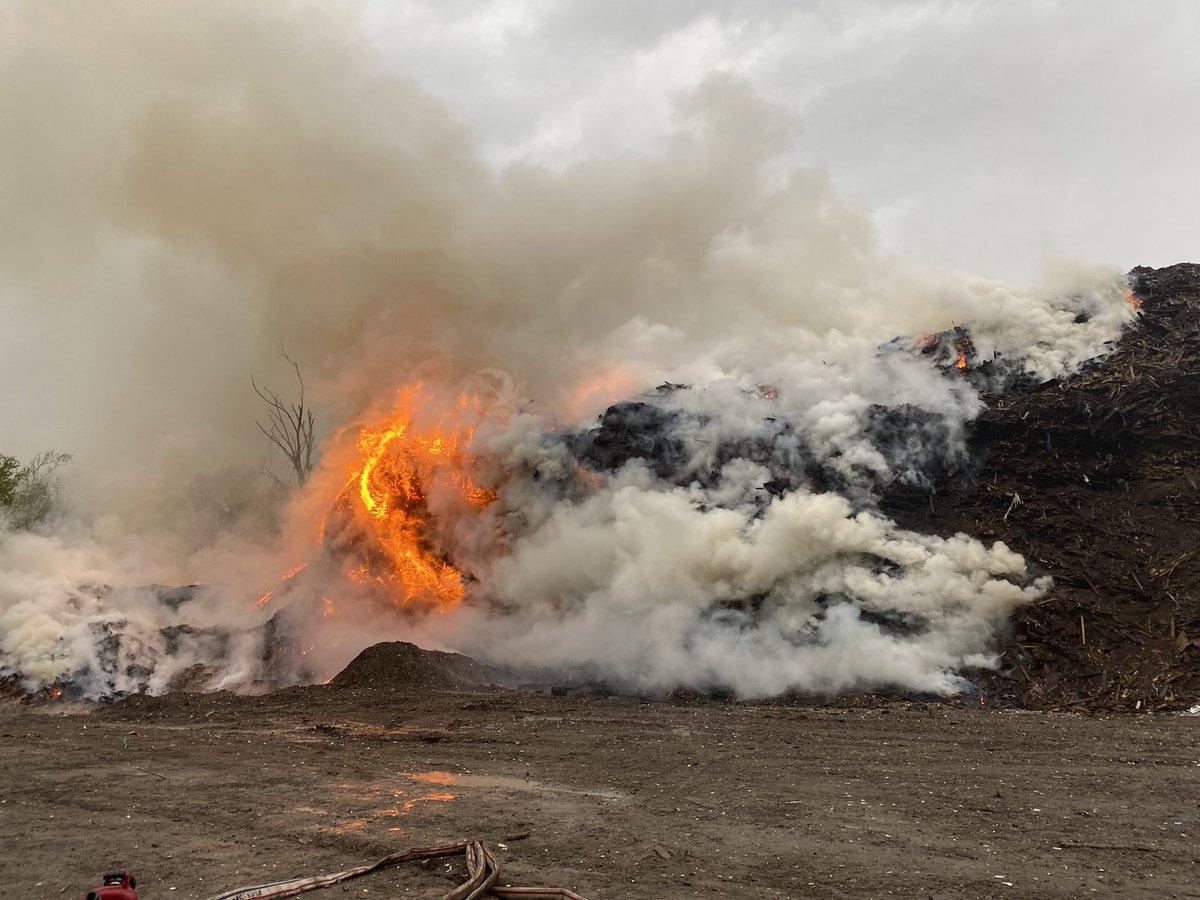
[[[492,851],[481,841],[463,841],[451,844],[445,847],[412,848],[390,853],[383,859],[367,865],[359,865],[354,869],[346,869],[330,875],[313,875],[292,881],[277,881],[271,884],[254,884],[245,888],[235,888],[209,898],[209,900],[275,900],[275,898],[295,896],[305,890],[316,888],[328,888],[360,875],[385,869],[390,865],[408,863],[414,859],[440,859],[444,857],[467,857],[467,881],[454,890],[443,894],[442,900],[479,900],[484,896],[494,896],[499,900],[521,900],[522,898],[544,898],[544,900],[583,900],[574,890],[565,888],[508,888],[498,887],[496,882],[500,877],[500,866],[492,856]]]

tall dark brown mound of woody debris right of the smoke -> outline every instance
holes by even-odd
[[[884,498],[911,528],[1002,540],[1054,576],[984,679],[1019,706],[1200,701],[1200,265],[1130,281],[1141,317],[1115,353],[986,397],[972,484]]]

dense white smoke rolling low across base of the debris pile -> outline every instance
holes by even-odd
[[[472,622],[473,649],[638,688],[944,692],[962,686],[965,665],[989,661],[996,628],[1044,589],[1006,580],[1022,578],[1025,562],[1003,545],[906,534],[834,494],[792,493],[748,523],[648,487],[644,472],[624,473],[518,542],[486,581],[520,613]],[[878,574],[880,560],[902,577]],[[752,598],[755,613],[731,604]],[[889,632],[856,604],[929,630]]]

